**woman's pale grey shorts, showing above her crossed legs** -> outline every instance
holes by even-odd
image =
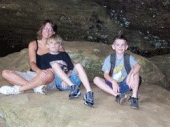
[[[15,72],[18,75],[20,75],[21,77],[23,77],[24,79],[26,79],[27,81],[31,81],[34,77],[37,76],[37,73],[33,72],[33,71],[27,71],[27,72],[15,71]],[[47,85],[47,90],[55,90],[56,89],[55,80],[53,80],[51,83],[45,84],[45,85]]]

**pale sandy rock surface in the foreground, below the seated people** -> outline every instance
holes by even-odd
[[[78,99],[69,100],[69,91],[50,91],[47,95],[28,91],[20,95],[0,95],[5,120],[1,127],[169,127],[170,93],[159,86],[142,84],[139,110],[129,103],[119,105],[112,97],[92,85],[93,108],[83,104],[85,89]],[[159,93],[159,94],[158,94]],[[130,93],[127,93],[130,96]],[[8,105],[8,108],[7,108]],[[16,109],[15,109],[15,108]],[[22,112],[21,112],[22,111]],[[26,115],[26,116],[25,116]]]

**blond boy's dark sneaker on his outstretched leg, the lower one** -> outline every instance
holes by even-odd
[[[92,91],[86,92],[84,95],[84,104],[90,107],[94,105],[94,94]]]

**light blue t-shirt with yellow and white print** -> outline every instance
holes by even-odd
[[[133,56],[130,55],[130,66],[133,68],[133,66],[136,64],[136,60]],[[106,57],[104,64],[102,66],[102,71],[110,71],[111,63],[110,63],[110,55]],[[122,82],[127,76],[127,72],[124,66],[124,57],[121,59],[118,59],[116,56],[115,61],[115,67],[113,70],[112,78],[116,80],[116,82]]]

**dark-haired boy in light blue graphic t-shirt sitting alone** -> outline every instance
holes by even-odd
[[[127,95],[126,92],[132,90],[132,96],[129,98],[132,108],[139,108],[138,106],[138,86],[139,86],[139,71],[140,65],[135,58],[130,55],[130,67],[132,68],[128,73],[125,68],[124,54],[127,50],[127,39],[121,33],[114,38],[112,49],[116,52],[115,66],[111,70],[111,55],[107,56],[102,66],[104,72],[104,79],[95,77],[93,82],[100,89],[116,97],[116,102],[123,104]],[[113,72],[110,75],[110,72]]]

